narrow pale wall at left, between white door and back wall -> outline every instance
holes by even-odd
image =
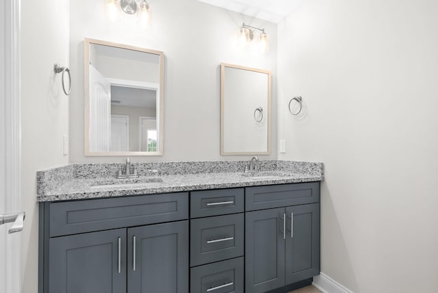
[[[68,163],[68,102],[53,64],[68,63],[68,0],[21,1],[21,192],[23,293],[38,288],[36,171]]]

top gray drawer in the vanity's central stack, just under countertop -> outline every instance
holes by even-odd
[[[244,188],[190,192],[190,218],[244,212]]]

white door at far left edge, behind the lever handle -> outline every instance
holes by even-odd
[[[0,19],[0,213],[21,212],[21,104],[20,104],[21,0],[1,1]],[[4,107],[3,107],[4,106]],[[0,292],[21,292],[21,233],[8,234],[11,224],[0,226]]]

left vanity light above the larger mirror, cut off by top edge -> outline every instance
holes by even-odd
[[[137,23],[146,29],[150,19],[150,6],[146,0],[105,0],[105,10],[110,21],[120,21],[120,11],[137,14]]]

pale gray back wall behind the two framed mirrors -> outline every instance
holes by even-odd
[[[276,24],[244,16],[196,0],[151,1],[152,27],[136,27],[122,15],[111,23],[104,1],[70,1],[70,162],[123,162],[124,157],[83,155],[83,38],[96,38],[164,51],[164,155],[135,157],[133,162],[239,160],[220,156],[220,63],[272,72],[272,154],[276,158]],[[86,7],[87,9],[84,9]],[[135,17],[134,17],[135,18]],[[242,23],[264,27],[270,52],[257,54],[237,48]],[[257,38],[257,34],[255,37]],[[187,143],[190,141],[190,143]]]

